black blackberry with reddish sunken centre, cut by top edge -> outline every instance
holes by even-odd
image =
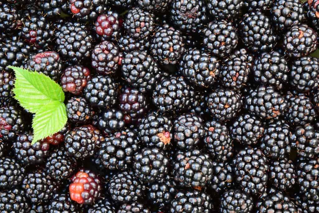
[[[185,33],[197,33],[209,21],[206,4],[202,0],[173,0],[170,21]]]

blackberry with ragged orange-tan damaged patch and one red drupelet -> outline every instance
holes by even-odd
[[[170,149],[173,139],[173,124],[165,114],[157,112],[147,114],[138,126],[138,137],[147,147]]]

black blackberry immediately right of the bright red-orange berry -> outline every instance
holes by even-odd
[[[116,203],[136,202],[144,195],[145,189],[133,171],[117,173],[108,182],[108,193]]]

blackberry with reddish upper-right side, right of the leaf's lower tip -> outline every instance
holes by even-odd
[[[75,127],[65,134],[64,146],[67,156],[84,159],[93,156],[105,138],[92,125]]]

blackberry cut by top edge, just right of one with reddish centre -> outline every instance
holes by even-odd
[[[209,0],[207,2],[208,11],[216,19],[233,19],[241,15],[241,9],[243,6],[243,0]]]

